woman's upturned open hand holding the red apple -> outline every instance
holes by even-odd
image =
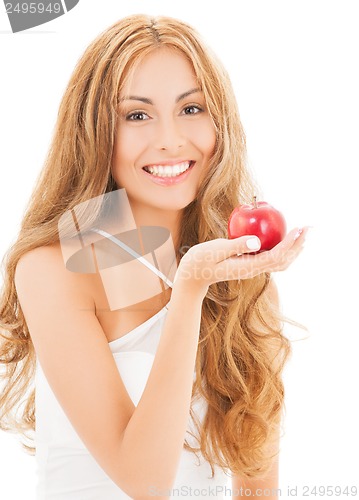
[[[217,238],[191,247],[182,257],[177,279],[188,280],[191,286],[204,290],[219,281],[248,279],[264,272],[283,271],[298,257],[303,249],[309,226],[300,231],[290,231],[271,250],[248,255],[260,248],[260,240],[254,235],[241,236],[232,240]],[[258,243],[248,248],[248,240]]]

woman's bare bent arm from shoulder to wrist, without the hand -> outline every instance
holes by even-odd
[[[177,280],[136,408],[95,315],[88,280],[69,272],[55,247],[25,254],[15,275],[38,359],[76,432],[121,489],[135,499],[149,498],[150,486],[171,488],[177,472],[205,292],[193,292]]]

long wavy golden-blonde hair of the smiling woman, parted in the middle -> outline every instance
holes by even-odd
[[[167,46],[192,63],[216,129],[217,144],[196,199],[183,211],[176,252],[227,237],[227,220],[258,187],[246,166],[246,141],[227,72],[200,35],[168,17],[132,15],[102,34],[79,60],[62,98],[45,165],[15,244],[5,255],[0,297],[0,426],[32,439],[36,353],[14,285],[27,251],[59,240],[58,220],[78,203],[118,189],[111,175],[119,92],[151,51]],[[211,285],[202,308],[193,397],[208,403],[199,445],[213,465],[243,477],[265,474],[284,406],[281,372],[290,353],[270,299],[269,273]],[[2,333],[1,333],[2,332]],[[269,346],[271,348],[269,349]],[[273,350],[274,349],[274,350]],[[277,354],[277,362],[273,357]],[[24,403],[20,417],[15,410]],[[192,409],[191,409],[192,413]],[[195,415],[192,413],[195,418]],[[31,454],[35,447],[23,443]]]

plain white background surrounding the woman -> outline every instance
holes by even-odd
[[[293,356],[282,498],[288,487],[301,498],[306,485],[358,486],[356,9],[346,0],[86,0],[17,34],[0,15],[1,257],[15,240],[70,74],[95,36],[128,14],[170,15],[195,26],[224,62],[263,198],[289,229],[314,226],[298,260],[275,275],[284,314],[309,329],[286,329]],[[15,436],[0,433],[2,498],[35,498],[34,462]]]

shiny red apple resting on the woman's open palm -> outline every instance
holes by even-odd
[[[261,240],[259,253],[275,247],[284,238],[287,225],[283,215],[266,201],[253,197],[252,205],[240,205],[228,220],[228,238],[254,234]]]

